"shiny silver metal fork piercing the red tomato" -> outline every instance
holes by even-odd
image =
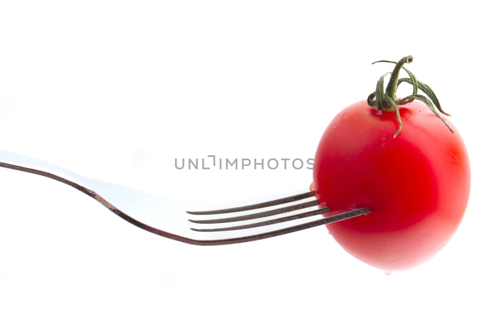
[[[237,207],[194,209],[189,204],[90,179],[49,162],[0,150],[0,167],[67,184],[131,224],[183,243],[211,246],[244,243],[364,215],[367,207],[329,211],[315,191],[248,201]],[[190,226],[191,225],[191,226]],[[164,230],[163,230],[164,229]]]

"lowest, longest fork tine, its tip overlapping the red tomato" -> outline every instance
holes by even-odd
[[[202,245],[202,246],[213,246],[213,245],[228,245],[228,244],[238,244],[238,243],[245,243],[251,242],[255,240],[260,240],[264,238],[271,238],[275,236],[285,235],[290,232],[300,231],[308,228],[313,228],[325,224],[329,224],[332,222],[337,222],[345,219],[349,219],[352,217],[356,217],[359,215],[363,215],[369,212],[369,208],[361,208],[356,210],[341,210],[341,211],[334,211],[331,216],[324,217],[323,219],[307,222],[301,225],[288,227],[284,229],[273,230],[269,232],[260,233],[257,235],[245,236],[245,237],[237,237],[237,238],[228,238],[228,239],[218,239],[218,240],[201,240],[193,242],[192,244]],[[337,214],[335,214],[337,213]]]

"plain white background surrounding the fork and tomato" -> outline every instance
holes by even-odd
[[[1,169],[0,324],[487,321],[481,1],[0,3],[3,150],[183,201],[301,190],[306,169],[178,171],[174,158],[313,157],[332,117],[392,68],[370,63],[412,55],[408,69],[452,115],[472,168],[449,244],[390,276],[325,227],[195,247]]]

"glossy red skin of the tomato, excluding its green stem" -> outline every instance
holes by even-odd
[[[468,204],[468,152],[452,123],[421,102],[379,111],[366,100],[334,117],[315,154],[313,185],[331,211],[371,212],[328,224],[359,260],[387,272],[413,268],[452,237]]]

